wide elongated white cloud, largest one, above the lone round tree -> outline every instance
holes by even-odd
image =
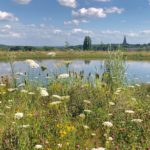
[[[81,8],[78,11],[72,11],[72,15],[75,17],[105,18],[107,14],[110,13],[121,14],[123,11],[124,11],[123,8],[118,8],[118,7],[111,7],[107,9],[90,7],[90,8]]]

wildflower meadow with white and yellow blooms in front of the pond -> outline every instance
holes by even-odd
[[[92,82],[65,73],[46,76],[43,87],[20,73],[15,79],[24,76],[25,82],[12,87],[1,78],[0,149],[149,149],[150,87],[125,84],[122,57],[111,56],[103,76]]]

